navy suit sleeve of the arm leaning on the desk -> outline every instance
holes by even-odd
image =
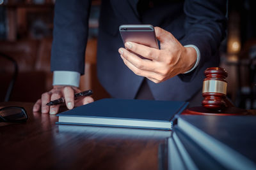
[[[88,38],[91,1],[57,0],[51,71],[76,71],[84,74],[84,52]]]

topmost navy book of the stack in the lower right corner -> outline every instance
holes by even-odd
[[[227,169],[256,169],[256,117],[180,115],[178,127]]]

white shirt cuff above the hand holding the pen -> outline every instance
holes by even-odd
[[[71,85],[79,87],[80,73],[76,71],[54,71],[52,85]]]

